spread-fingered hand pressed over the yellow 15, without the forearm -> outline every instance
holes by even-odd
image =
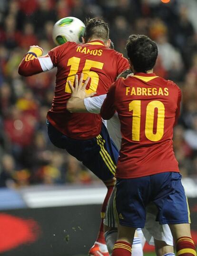
[[[70,90],[72,92],[71,97],[77,97],[80,99],[84,99],[87,97],[92,97],[96,94],[96,92],[90,93],[90,94],[86,93],[86,86],[88,85],[89,78],[90,77],[88,76],[88,78],[86,79],[86,81],[83,84],[83,73],[80,75],[79,81],[78,81],[78,75],[75,75],[75,87],[73,87],[71,82],[68,81]]]

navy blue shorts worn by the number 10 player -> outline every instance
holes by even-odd
[[[144,228],[146,206],[153,202],[158,208],[156,221],[160,224],[190,223],[187,197],[179,172],[117,179],[116,211],[119,224]]]

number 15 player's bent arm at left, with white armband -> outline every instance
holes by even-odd
[[[43,50],[38,45],[30,46],[29,51],[19,65],[19,74],[30,76],[48,71],[53,68],[49,55],[42,56]]]

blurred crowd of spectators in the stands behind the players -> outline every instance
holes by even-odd
[[[188,5],[188,2],[190,3]],[[174,148],[184,177],[197,177],[197,1],[0,0],[0,187],[98,182],[80,162],[50,143],[46,113],[56,69],[21,77],[18,65],[30,45],[54,47],[53,24],[74,16],[103,17],[115,49],[126,56],[131,33],[158,44],[154,72],[172,79],[183,93]],[[127,56],[126,56],[127,57]]]

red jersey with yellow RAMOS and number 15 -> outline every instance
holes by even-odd
[[[45,58],[48,58],[45,61]],[[49,122],[60,132],[74,139],[90,139],[99,135],[101,117],[91,113],[69,113],[66,108],[71,91],[68,80],[74,83],[75,75],[90,76],[86,92],[106,94],[116,77],[129,68],[128,60],[121,53],[109,49],[102,41],[85,44],[64,43],[51,51],[48,56],[25,59],[19,67],[21,75],[33,75],[57,67],[55,95],[48,112]],[[41,71],[40,71],[41,68]]]

